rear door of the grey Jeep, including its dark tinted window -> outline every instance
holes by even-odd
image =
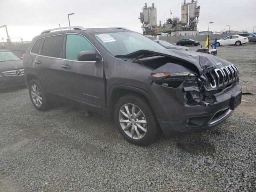
[[[65,88],[61,83],[61,60],[63,55],[64,34],[44,38],[42,53],[35,60],[37,75],[48,96],[64,96]],[[53,98],[54,99],[54,98]]]

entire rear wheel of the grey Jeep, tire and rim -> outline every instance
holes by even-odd
[[[49,108],[50,101],[46,97],[44,89],[38,80],[33,79],[29,82],[28,91],[30,100],[37,110],[44,111]]]

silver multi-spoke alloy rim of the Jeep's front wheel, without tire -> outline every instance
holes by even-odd
[[[119,110],[122,130],[130,138],[142,139],[147,133],[147,120],[142,110],[134,104],[124,104]]]

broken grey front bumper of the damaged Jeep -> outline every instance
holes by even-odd
[[[158,108],[156,117],[166,136],[175,133],[199,132],[217,126],[233,112],[230,109],[232,96],[241,93],[241,86],[233,86],[215,94],[216,102],[208,106],[186,105],[177,88],[164,87],[153,83],[148,93]]]

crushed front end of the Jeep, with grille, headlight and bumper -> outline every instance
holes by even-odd
[[[159,108],[158,122],[167,136],[214,127],[241,102],[242,88],[234,64],[206,64],[199,73],[166,63],[149,78],[153,83],[148,93]]]

